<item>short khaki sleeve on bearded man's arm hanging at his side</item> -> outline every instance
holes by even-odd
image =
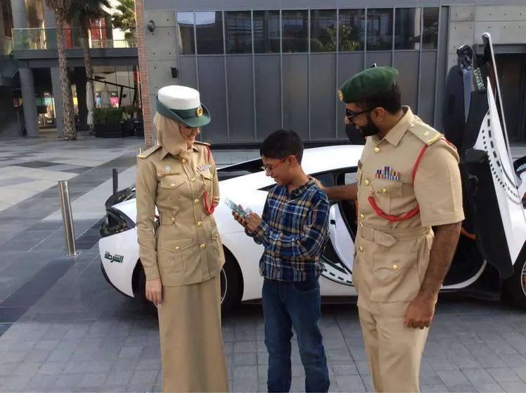
[[[464,220],[458,154],[440,140],[425,150],[414,180],[422,225],[426,227]]]

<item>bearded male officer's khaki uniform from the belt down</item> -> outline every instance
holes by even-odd
[[[364,344],[376,392],[420,392],[418,373],[428,328],[402,322],[428,268],[432,231],[360,227],[354,283]]]

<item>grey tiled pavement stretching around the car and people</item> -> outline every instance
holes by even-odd
[[[50,148],[49,156],[68,149],[66,143]],[[89,154],[91,143],[102,142],[77,145],[79,161],[89,161],[82,154]],[[1,392],[160,391],[157,323],[105,282],[96,249],[111,169],[119,168],[121,187],[134,178],[133,143],[126,143],[113,147],[120,155],[70,180],[77,257],[63,256],[56,185],[0,211]],[[6,144],[2,149],[8,154]],[[214,156],[224,164],[249,153]],[[28,158],[32,166],[47,160]],[[223,325],[231,389],[266,391],[261,308],[244,305],[224,316]],[[355,306],[324,306],[321,325],[331,391],[371,391]],[[293,390],[302,391],[304,372],[293,348]],[[525,311],[440,299],[421,368],[423,392],[526,392],[525,382]]]

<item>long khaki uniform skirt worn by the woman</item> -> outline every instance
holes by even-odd
[[[220,275],[162,287],[162,392],[229,392],[221,330]]]

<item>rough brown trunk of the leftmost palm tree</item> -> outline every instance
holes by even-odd
[[[64,139],[77,139],[77,130],[75,130],[75,122],[73,121],[73,101],[71,93],[70,73],[68,72],[68,61],[65,54],[65,38],[64,38],[64,15],[59,15],[57,11],[55,14],[55,25],[57,35],[57,49],[58,49],[58,74],[60,77],[60,91],[62,92],[62,111],[64,123]]]

